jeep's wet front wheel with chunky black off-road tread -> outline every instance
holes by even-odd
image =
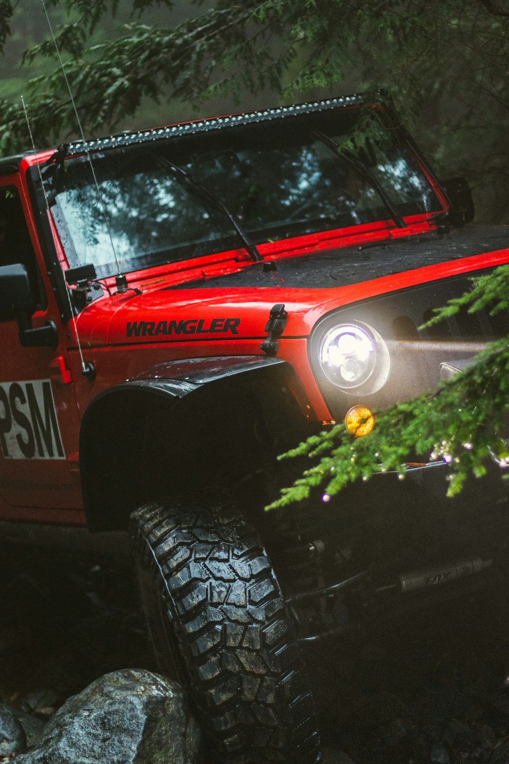
[[[292,622],[256,532],[229,505],[177,500],[131,516],[159,668],[188,686],[208,761],[314,764],[314,707]]]

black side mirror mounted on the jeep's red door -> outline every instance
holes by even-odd
[[[27,269],[21,263],[0,267],[0,313],[14,314],[18,322],[19,341],[24,348],[58,345],[58,332],[53,321],[32,328],[36,300]]]

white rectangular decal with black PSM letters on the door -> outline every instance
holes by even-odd
[[[50,380],[0,383],[5,459],[65,459]]]

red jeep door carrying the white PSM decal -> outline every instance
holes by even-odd
[[[4,266],[26,268],[36,305],[32,326],[53,322],[55,332],[54,342],[22,347],[19,314],[0,306],[0,515],[78,523],[79,419],[66,369],[68,335],[43,267],[27,191],[18,173],[2,176],[2,170],[9,167],[0,166],[0,274]]]

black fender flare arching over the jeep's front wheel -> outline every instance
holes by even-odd
[[[138,497],[133,490],[134,474],[147,473],[143,453],[135,453],[147,420],[153,421],[154,429],[163,428],[164,413],[180,400],[190,398],[188,406],[193,406],[193,400],[200,400],[201,390],[208,388],[214,395],[231,382],[249,389],[260,380],[275,381],[275,387],[288,396],[282,384],[293,374],[291,364],[281,358],[191,358],[158,364],[98,393],[85,409],[79,432],[82,497],[89,530],[124,529],[130,511],[153,499],[143,491]],[[278,406],[274,408],[278,410]],[[179,432],[168,432],[169,444],[176,439]]]

